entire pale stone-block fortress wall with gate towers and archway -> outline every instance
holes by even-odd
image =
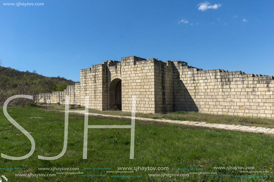
[[[273,76],[220,69],[202,70],[183,61],[160,61],[136,56],[108,60],[80,70],[81,81],[61,92],[40,94],[39,102],[85,105],[131,112],[199,111],[237,116],[274,117]],[[119,93],[120,92],[120,93]],[[120,98],[119,98],[120,97]]]

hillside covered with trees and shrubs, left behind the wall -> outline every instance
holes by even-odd
[[[46,77],[38,74],[36,70],[19,71],[1,66],[0,60],[0,105],[3,106],[7,98],[13,95],[32,95],[30,99],[13,99],[9,105],[26,105],[33,102],[39,93],[63,91],[67,85],[74,85],[72,80],[64,77]]]

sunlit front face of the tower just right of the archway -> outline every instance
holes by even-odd
[[[136,56],[121,58],[122,111],[131,112],[136,95],[136,112],[154,113],[154,60]]]

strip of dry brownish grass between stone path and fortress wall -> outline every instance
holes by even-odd
[[[48,105],[39,105],[41,108],[47,108]],[[65,111],[65,105],[50,104],[49,110]],[[85,110],[84,107],[71,110]],[[96,109],[89,109],[90,113],[107,114],[115,116],[131,116],[131,112],[122,111],[100,111]],[[274,119],[263,117],[242,117],[230,115],[215,115],[203,114],[198,112],[170,112],[170,113],[155,113],[144,114],[136,113],[136,117],[152,118],[152,119],[170,119],[180,121],[198,121],[207,123],[227,124],[227,125],[244,125],[244,126],[260,126],[266,128],[274,128]]]

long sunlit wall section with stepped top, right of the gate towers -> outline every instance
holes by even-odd
[[[273,76],[220,69],[201,70],[189,66],[177,66],[176,69],[177,78],[182,82],[176,89],[182,89],[180,95],[188,104],[175,102],[179,107],[174,110],[194,110],[197,107],[202,113],[274,117]],[[191,98],[187,97],[188,94]],[[179,94],[176,97],[180,99]],[[195,107],[188,107],[193,105],[191,102]]]

